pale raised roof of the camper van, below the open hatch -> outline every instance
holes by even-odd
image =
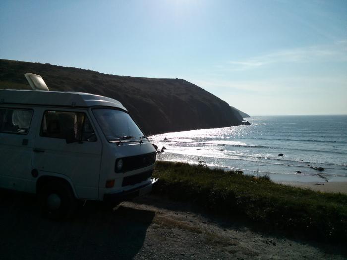
[[[82,92],[0,90],[0,104],[68,107],[112,106],[127,111],[120,102],[114,99]]]

